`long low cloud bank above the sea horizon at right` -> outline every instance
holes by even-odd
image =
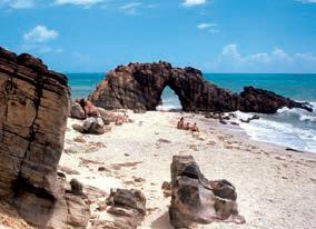
[[[226,72],[293,72],[297,69],[306,72],[316,71],[316,56],[312,53],[288,53],[275,48],[270,52],[243,56],[237,44],[223,48],[218,58],[211,62],[213,71]]]

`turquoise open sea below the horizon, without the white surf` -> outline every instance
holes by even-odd
[[[103,78],[103,73],[68,73],[72,98],[87,97]],[[316,101],[316,74],[205,73],[205,79],[234,92],[245,86],[268,89],[296,100]],[[164,96],[171,93],[166,91]],[[167,98],[167,97],[166,97]]]

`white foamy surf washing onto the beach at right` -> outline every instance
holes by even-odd
[[[254,140],[316,152],[316,102],[310,104],[313,112],[283,108],[275,114],[260,114],[259,120],[239,125]],[[236,114],[240,119],[253,116],[240,111]]]

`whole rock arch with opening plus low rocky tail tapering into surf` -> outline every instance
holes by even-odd
[[[156,110],[167,86],[178,96],[184,111],[274,113],[283,107],[312,110],[306,103],[253,87],[240,94],[233,93],[206,81],[197,69],[172,68],[162,61],[117,67],[107,73],[89,100],[105,109]]]

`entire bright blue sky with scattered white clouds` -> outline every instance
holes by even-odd
[[[0,0],[0,46],[61,72],[165,60],[316,73],[316,0]]]

